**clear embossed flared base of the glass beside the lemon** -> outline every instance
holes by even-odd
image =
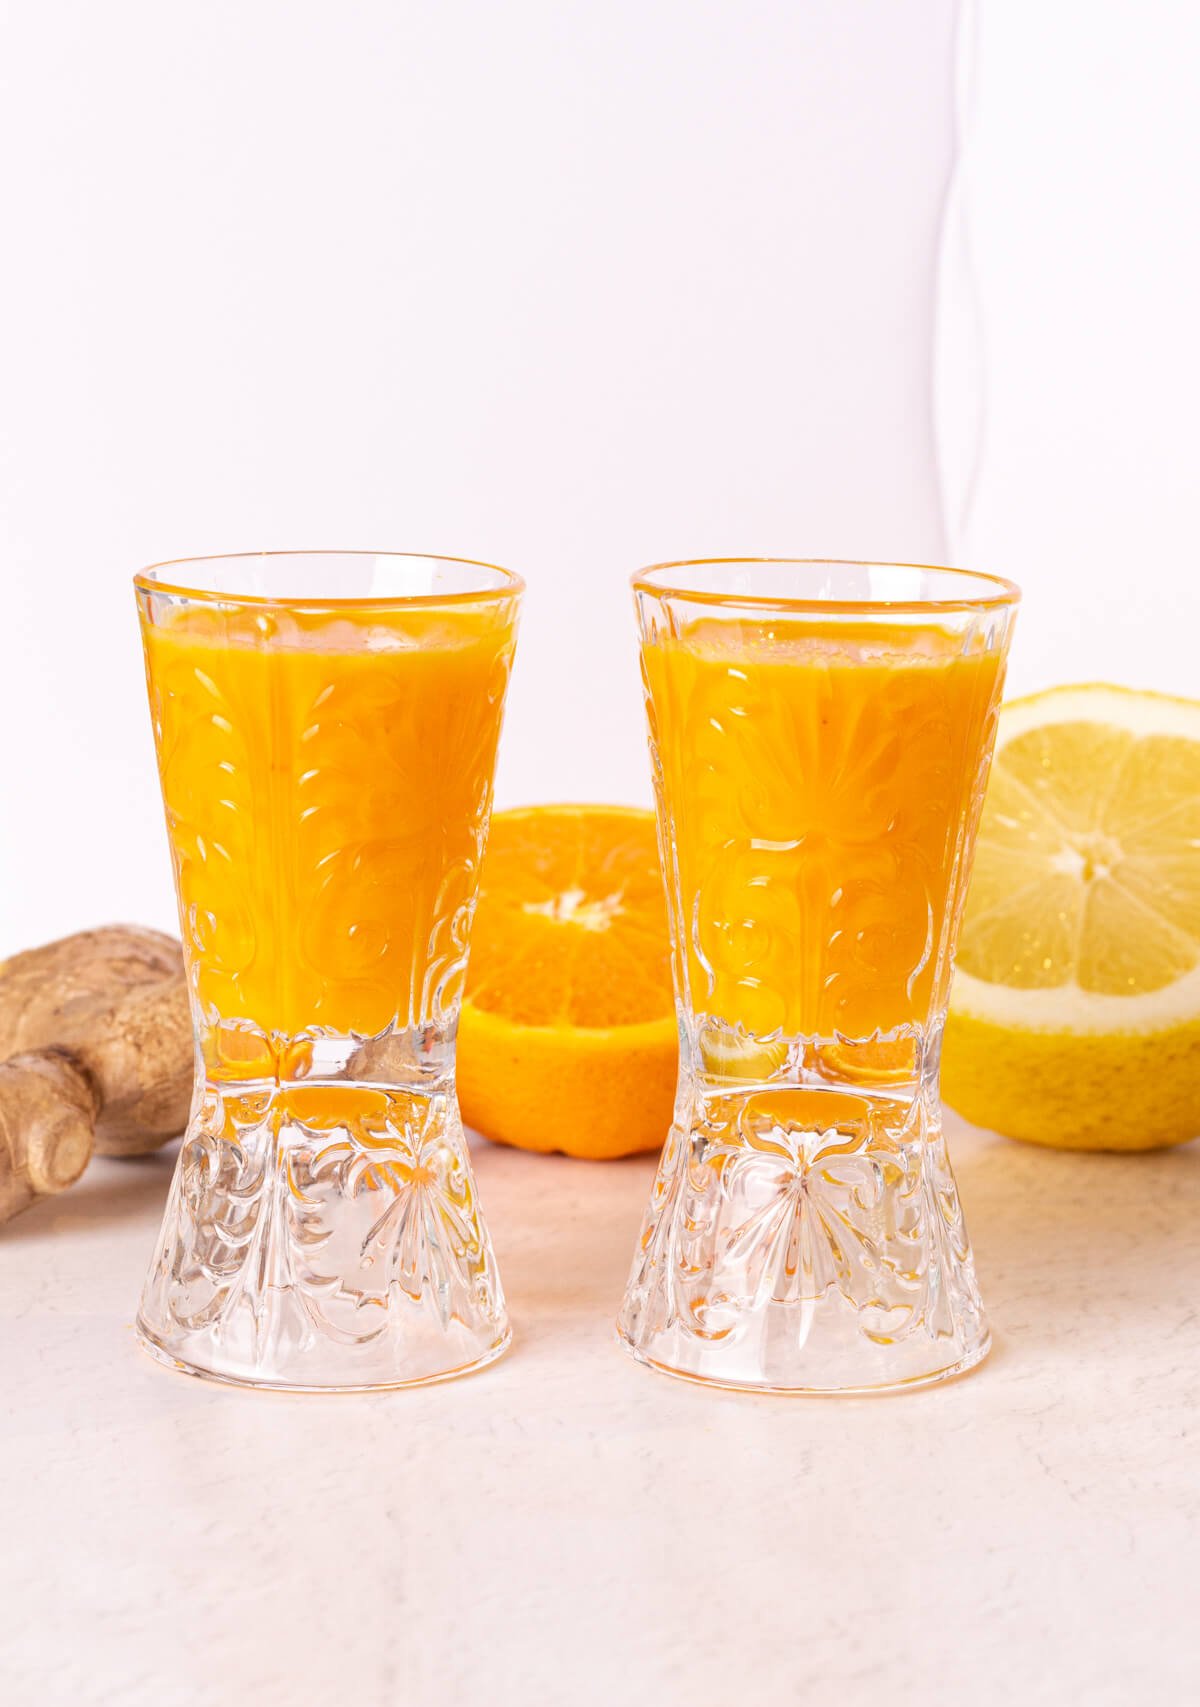
[[[937,1103],[696,1087],[618,1318],[640,1362],[772,1393],[944,1381],[990,1337]]]

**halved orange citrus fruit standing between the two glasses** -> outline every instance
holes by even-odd
[[[497,813],[459,1022],[463,1118],[529,1151],[659,1149],[676,1069],[654,814]]]

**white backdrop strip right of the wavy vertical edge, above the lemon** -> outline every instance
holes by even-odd
[[[1200,5],[985,0],[976,48],[983,456],[951,550],[1024,587],[1016,691],[1200,696]]]

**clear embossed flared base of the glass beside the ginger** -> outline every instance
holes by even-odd
[[[498,1357],[509,1318],[452,1086],[205,1084],[137,1328],[176,1369],[288,1391]]]

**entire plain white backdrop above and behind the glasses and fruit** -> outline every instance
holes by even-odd
[[[951,0],[0,20],[0,953],[172,920],[166,556],[521,568],[502,804],[647,799],[671,555],[997,568],[1016,686],[1197,691],[1200,9],[987,0],[973,97]]]

